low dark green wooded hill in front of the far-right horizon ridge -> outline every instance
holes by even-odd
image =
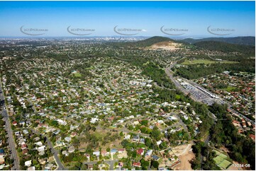
[[[246,45],[235,45],[226,42],[216,42],[216,41],[203,41],[194,43],[196,47],[208,49],[208,50],[216,50],[220,52],[240,52],[243,54],[253,54],[255,53],[254,46],[246,46]]]

